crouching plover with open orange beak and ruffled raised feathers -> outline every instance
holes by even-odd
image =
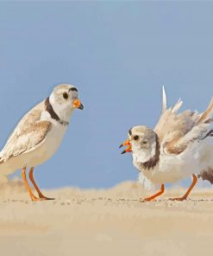
[[[172,200],[185,200],[197,183],[197,177],[213,183],[213,99],[207,110],[179,111],[182,101],[166,109],[163,87],[163,107],[160,119],[152,130],[145,125],[134,126],[121,146],[122,153],[132,152],[133,164],[142,176],[155,185],[161,185],[155,195],[141,199],[151,201],[164,193],[166,182],[177,182],[191,176],[192,182],[185,195]]]

